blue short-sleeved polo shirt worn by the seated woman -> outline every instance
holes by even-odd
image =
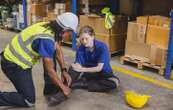
[[[89,51],[84,45],[77,49],[75,63],[84,67],[96,67],[98,63],[104,63],[101,73],[112,73],[109,51],[101,41],[94,40],[94,50]]]

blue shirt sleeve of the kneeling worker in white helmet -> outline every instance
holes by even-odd
[[[53,58],[55,52],[55,43],[50,39],[36,39],[32,43],[32,49],[41,55],[41,57]]]

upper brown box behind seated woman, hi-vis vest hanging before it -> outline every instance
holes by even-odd
[[[105,28],[105,19],[96,15],[81,15],[80,27],[89,25],[94,28],[96,33],[104,35],[115,35],[127,32],[127,18],[124,16],[116,16],[112,29]]]

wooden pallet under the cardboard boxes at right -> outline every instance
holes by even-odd
[[[123,57],[120,58],[120,63],[121,64],[125,64],[126,62],[130,62],[130,63],[136,64],[138,69],[142,69],[143,70],[144,68],[147,67],[147,68],[151,68],[151,69],[157,70],[158,74],[160,74],[162,76],[164,75],[164,69],[165,69],[164,66],[151,64],[146,59],[142,60],[142,59],[137,59],[137,58],[130,57],[130,56],[123,56]]]

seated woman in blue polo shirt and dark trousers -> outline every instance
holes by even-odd
[[[90,92],[117,88],[120,80],[112,72],[106,44],[95,40],[94,30],[90,26],[82,27],[79,36],[81,45],[68,72],[72,77],[71,88],[88,89]]]

